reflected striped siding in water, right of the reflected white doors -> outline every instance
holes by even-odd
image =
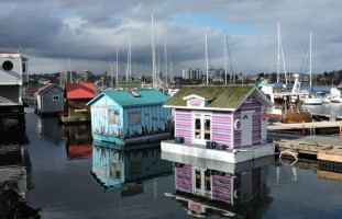
[[[212,175],[212,199],[232,203],[232,177],[230,174],[224,176]]]

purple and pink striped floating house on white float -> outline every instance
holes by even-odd
[[[162,150],[231,163],[272,154],[272,106],[253,85],[183,87],[164,104],[175,110],[175,140],[163,141]]]

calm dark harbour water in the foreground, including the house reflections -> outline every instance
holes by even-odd
[[[59,126],[54,117],[41,119],[27,108],[24,131],[1,130],[0,182],[15,181],[15,191],[41,208],[42,218],[341,218],[342,173],[319,170],[317,162],[289,165],[271,159],[231,171],[164,154],[162,160],[158,147],[123,152],[92,146],[89,131],[89,126]],[[213,170],[216,181],[208,184],[196,162]],[[121,178],[108,178],[104,169]],[[196,182],[198,193],[221,187],[228,193],[216,192],[217,197],[236,206],[176,192],[187,189],[187,170],[203,178]],[[235,196],[229,192],[233,186],[241,186]]]

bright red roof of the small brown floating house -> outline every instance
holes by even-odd
[[[66,83],[65,91],[67,99],[93,99],[93,83]]]

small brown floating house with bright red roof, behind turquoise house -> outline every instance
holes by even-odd
[[[90,123],[90,107],[86,104],[95,96],[93,83],[66,83],[65,115],[60,117],[62,123]]]

